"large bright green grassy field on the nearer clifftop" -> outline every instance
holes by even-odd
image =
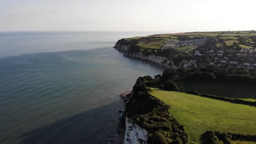
[[[171,114],[184,125],[190,141],[199,142],[201,134],[206,130],[256,134],[256,107],[152,89],[150,94],[171,105]]]

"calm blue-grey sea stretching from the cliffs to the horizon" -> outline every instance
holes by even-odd
[[[117,94],[164,70],[112,47],[148,34],[0,33],[0,143],[106,142],[124,107]]]

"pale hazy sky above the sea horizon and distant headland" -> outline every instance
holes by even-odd
[[[256,30],[255,0],[0,0],[0,31]]]

